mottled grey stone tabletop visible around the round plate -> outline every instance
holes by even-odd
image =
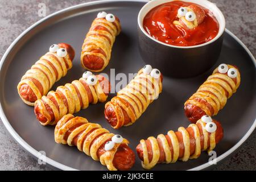
[[[39,3],[45,3],[47,15],[65,7],[92,0],[0,0],[0,59],[13,40],[26,28],[40,19]],[[242,40],[256,55],[256,1],[211,0],[222,10],[226,27]],[[1,119],[0,119],[1,121]],[[28,152],[11,137],[0,122],[0,170],[51,170],[39,165]],[[214,170],[255,170],[256,131],[229,159],[214,167]]]

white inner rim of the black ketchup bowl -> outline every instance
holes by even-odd
[[[200,6],[203,6],[203,5],[201,5],[201,3],[204,3],[205,5],[207,4],[209,7],[211,6],[212,7],[212,12],[216,16],[216,19],[219,19],[219,20],[217,20],[218,24],[219,24],[219,30],[218,30],[217,36],[215,38],[213,38],[212,40],[210,40],[209,42],[206,42],[204,44],[199,44],[199,45],[196,45],[196,46],[174,46],[174,45],[171,45],[171,44],[160,42],[159,40],[156,40],[156,39],[152,38],[152,36],[150,36],[146,32],[146,30],[144,30],[144,28],[143,28],[143,19],[144,19],[144,17],[147,15],[147,13],[150,10],[154,9],[154,7],[162,5],[164,3],[172,2],[172,1],[175,1],[175,0],[152,0],[152,1],[148,1],[148,3],[146,3],[146,5],[144,5],[142,7],[141,11],[139,11],[139,14],[138,14],[138,25],[139,25],[139,28],[143,32],[143,34],[146,35],[151,40],[154,40],[155,42],[157,42],[159,44],[162,44],[164,46],[168,46],[168,47],[188,49],[188,48],[198,48],[198,47],[206,46],[206,45],[208,45],[210,43],[215,42],[216,40],[218,40],[224,34],[225,27],[226,27],[225,17],[222,14],[221,10],[218,9],[218,7],[216,5],[214,5],[214,3],[209,2],[207,0],[201,0],[201,1],[198,1],[198,0],[181,0],[181,1],[185,1],[185,2],[196,3],[196,4],[200,5]],[[203,6],[203,7],[205,7],[205,6]],[[208,9],[208,7],[205,7],[205,8]]]

